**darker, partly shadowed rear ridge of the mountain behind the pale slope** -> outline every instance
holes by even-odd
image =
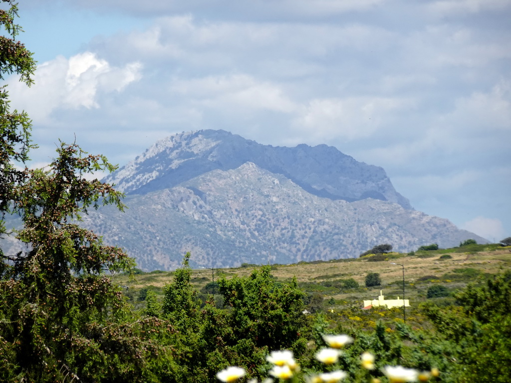
[[[105,181],[127,194],[147,194],[215,169],[237,169],[246,162],[281,174],[319,197],[350,202],[374,198],[411,209],[381,167],[358,162],[334,147],[272,147],[223,130],[162,139]]]

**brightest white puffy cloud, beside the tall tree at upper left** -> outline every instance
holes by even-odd
[[[112,67],[95,54],[84,52],[39,65],[31,88],[12,81],[9,89],[16,107],[26,109],[43,123],[56,109],[99,108],[98,93],[122,91],[141,78],[141,69],[138,62]]]

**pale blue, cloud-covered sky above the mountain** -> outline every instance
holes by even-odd
[[[59,139],[121,166],[182,131],[324,143],[416,210],[511,236],[510,0],[19,3],[32,166]]]

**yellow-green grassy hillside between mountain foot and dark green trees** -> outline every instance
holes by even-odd
[[[382,258],[382,257],[380,257]],[[193,254],[192,254],[193,259]],[[300,262],[293,265],[273,265],[272,275],[277,281],[295,277],[300,288],[309,295],[306,302],[321,306],[319,296],[323,298],[323,310],[340,310],[343,308],[362,308],[364,299],[374,299],[380,290],[387,299],[396,299],[403,295],[403,274],[399,265],[405,266],[405,293],[410,300],[412,311],[420,302],[427,300],[428,288],[443,285],[448,292],[463,288],[468,283],[477,282],[481,277],[496,274],[511,268],[511,247],[493,245],[470,245],[452,249],[434,251],[417,251],[413,255],[389,253],[382,260],[371,261],[371,256],[356,259],[338,259],[330,261]],[[222,275],[245,276],[258,265],[242,265],[240,268],[215,269],[214,278]],[[367,273],[379,273],[382,285],[365,287]],[[144,306],[145,291],[154,290],[161,294],[166,283],[172,281],[174,272],[153,271],[139,273],[130,281],[125,275],[114,276],[120,285],[128,286],[126,295],[135,307]],[[344,288],[346,279],[358,282],[358,288]],[[200,292],[212,281],[211,269],[194,270],[192,283]],[[205,297],[205,294],[202,298]],[[437,298],[439,299],[439,298]],[[443,298],[448,299],[448,298]]]

